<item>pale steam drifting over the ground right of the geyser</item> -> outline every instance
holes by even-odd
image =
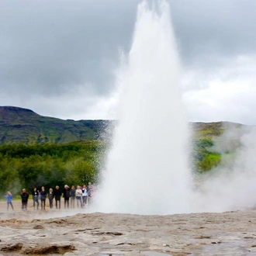
[[[199,211],[223,212],[256,206],[256,127],[224,126],[213,150],[220,164],[202,176],[197,192]]]

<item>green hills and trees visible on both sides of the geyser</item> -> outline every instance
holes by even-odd
[[[34,185],[48,188],[97,182],[109,147],[103,135],[109,130],[111,134],[113,124],[108,120],[63,120],[29,109],[0,107],[0,195],[8,189],[19,192]],[[199,176],[214,170],[223,157],[235,157],[247,128],[228,122],[189,125],[189,164]]]

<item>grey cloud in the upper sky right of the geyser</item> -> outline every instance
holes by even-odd
[[[171,1],[171,12],[185,64],[207,60],[212,66],[216,56],[255,54],[255,1]]]

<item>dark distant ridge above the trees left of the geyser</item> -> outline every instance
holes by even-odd
[[[97,140],[111,121],[63,120],[40,116],[31,109],[0,106],[0,144],[65,144]]]

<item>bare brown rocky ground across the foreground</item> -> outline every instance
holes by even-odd
[[[0,202],[0,255],[256,255],[255,210],[140,216],[31,204],[6,213]]]

